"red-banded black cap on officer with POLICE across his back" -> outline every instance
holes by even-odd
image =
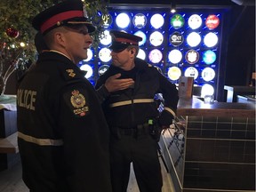
[[[32,21],[33,28],[40,30],[44,35],[52,28],[68,25],[84,24],[88,32],[92,33],[95,27],[88,21],[84,4],[81,0],[64,1],[40,12]]]

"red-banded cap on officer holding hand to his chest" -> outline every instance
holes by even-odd
[[[139,42],[142,40],[140,36],[134,36],[124,31],[111,30],[109,34],[112,36],[112,44],[109,49],[113,52],[122,52],[129,45],[139,46]]]

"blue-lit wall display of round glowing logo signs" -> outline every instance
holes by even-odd
[[[90,50],[80,63],[86,77],[95,84],[111,64],[109,30],[124,30],[141,36],[138,57],[160,68],[164,76],[178,84],[180,76],[194,77],[202,86],[201,95],[215,94],[220,68],[221,13],[218,10],[112,9],[106,17],[105,37],[99,50]],[[93,57],[95,55],[96,57]]]

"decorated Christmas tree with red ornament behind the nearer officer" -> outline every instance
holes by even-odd
[[[62,0],[64,1],[64,0]],[[1,0],[0,1],[0,95],[4,94],[6,82],[15,70],[26,71],[36,59],[34,37],[36,30],[31,22],[42,12],[61,0]],[[84,2],[84,1],[83,1]],[[91,0],[84,2],[89,20],[98,28],[93,46],[99,44],[103,34],[102,16],[108,14],[108,2]]]

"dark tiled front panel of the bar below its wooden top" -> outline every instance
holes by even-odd
[[[254,191],[255,119],[188,116],[187,120],[180,164],[175,164],[180,156],[175,137],[170,132],[163,135],[183,191]]]

